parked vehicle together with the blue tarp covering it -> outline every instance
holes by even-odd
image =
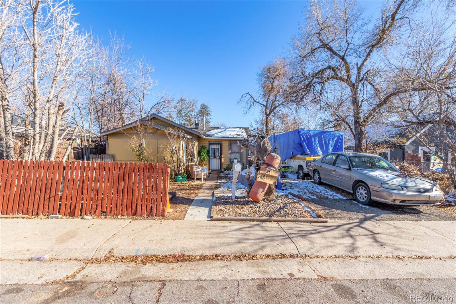
[[[341,131],[294,130],[269,136],[272,151],[282,159],[282,166],[298,178],[310,177],[313,160],[330,152],[343,152]]]

